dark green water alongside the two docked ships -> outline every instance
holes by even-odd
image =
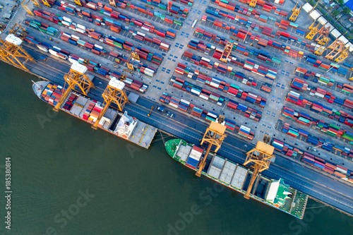
[[[303,220],[52,107],[34,76],[0,64],[0,234],[353,234],[353,218],[309,200]],[[11,156],[11,230],[5,161]]]

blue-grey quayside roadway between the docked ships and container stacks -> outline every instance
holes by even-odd
[[[28,52],[35,58],[39,58],[39,54],[34,49],[25,46]],[[46,54],[47,56],[47,54]],[[64,84],[64,73],[69,70],[70,64],[66,61],[57,61],[56,59],[48,58],[43,64],[28,63],[28,68],[33,73],[48,78],[55,83]],[[54,67],[54,68],[51,68]],[[103,102],[101,94],[107,85],[107,80],[95,78],[95,90],[91,90],[90,97]],[[160,112],[153,112],[150,117],[147,116],[152,105],[157,105],[157,102],[148,100],[145,97],[140,97],[137,104],[126,104],[125,110],[132,116],[135,116],[140,121],[144,121],[152,126],[159,128],[162,131],[171,133],[178,138],[183,138],[189,143],[199,144],[199,140],[203,136],[203,132],[208,126],[201,119],[191,118],[185,113],[167,107],[169,112],[176,114],[174,119],[163,115]],[[254,145],[249,143],[233,133],[229,133],[223,143],[218,154],[222,157],[237,162],[244,163],[244,152],[251,150]],[[289,157],[276,155],[275,163],[270,165],[270,169],[263,172],[263,175],[272,179],[282,178],[285,183],[288,183],[293,188],[296,188],[303,193],[310,195],[312,198],[321,200],[328,205],[337,207],[338,209],[353,215],[353,188],[347,183],[333,179],[331,176],[322,174],[316,169],[307,167],[301,162],[297,162]]]

